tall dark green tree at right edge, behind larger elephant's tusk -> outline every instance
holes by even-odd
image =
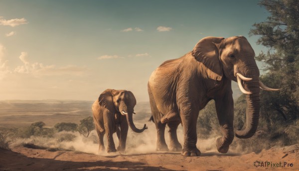
[[[268,48],[256,59],[266,74],[261,80],[278,92],[261,91],[261,119],[268,128],[293,123],[299,116],[299,2],[298,0],[260,0],[271,14],[255,23],[249,35],[259,35],[257,44]]]

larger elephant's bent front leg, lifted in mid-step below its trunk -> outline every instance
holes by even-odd
[[[234,140],[234,100],[231,88],[223,96],[215,98],[216,112],[223,134],[222,138],[216,141],[217,150],[220,153],[227,153],[229,145]]]

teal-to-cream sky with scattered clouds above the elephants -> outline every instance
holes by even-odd
[[[206,36],[248,37],[256,0],[0,0],[0,100],[95,100],[107,88],[149,101],[163,61]]]

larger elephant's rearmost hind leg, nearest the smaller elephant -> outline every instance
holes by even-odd
[[[156,144],[156,151],[168,151],[166,142],[165,142],[165,126],[166,123],[162,124],[161,123],[161,117],[160,113],[157,109],[156,103],[154,101],[154,98],[152,96],[151,90],[148,87],[149,91],[149,103],[150,103],[150,109],[151,109],[151,114],[153,117],[153,121],[157,130],[157,144]]]

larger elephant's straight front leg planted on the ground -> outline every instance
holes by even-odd
[[[200,151],[196,148],[196,124],[198,114],[199,109],[195,106],[184,105],[180,107],[180,117],[184,129],[182,156],[200,156]]]

